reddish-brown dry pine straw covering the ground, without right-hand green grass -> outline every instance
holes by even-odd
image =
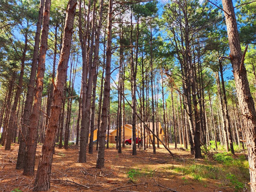
[[[180,173],[174,173],[168,167],[184,166],[195,163],[188,151],[174,150],[180,156],[172,159],[162,146],[153,155],[152,148],[146,151],[138,150],[137,156],[132,156],[131,146],[122,148],[118,154],[115,147],[105,150],[105,167],[96,169],[97,151],[87,154],[87,163],[76,163],[78,147],[71,146],[68,150],[55,148],[51,170],[51,188],[49,191],[215,191],[219,188],[218,180],[207,179],[196,181]],[[38,145],[36,153],[36,168],[42,145]],[[19,189],[23,192],[32,191],[35,177],[23,176],[23,170],[16,170],[18,144],[11,146],[11,151],[0,147],[0,191]],[[196,161],[205,163],[203,159]],[[128,178],[129,170],[139,170],[139,176],[133,180]],[[36,175],[36,174],[35,174]],[[184,182],[184,177],[186,182]],[[221,189],[232,191],[229,188]]]

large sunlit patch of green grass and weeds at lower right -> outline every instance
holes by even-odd
[[[224,186],[233,187],[234,191],[242,191],[246,188],[245,183],[250,181],[250,174],[248,160],[244,155],[234,158],[229,152],[224,152],[215,154],[214,159],[216,163],[207,161],[203,165],[171,166],[168,169],[189,176],[193,180],[204,182],[205,185],[207,179],[215,179],[220,180]],[[182,179],[184,184],[189,182],[185,177]]]

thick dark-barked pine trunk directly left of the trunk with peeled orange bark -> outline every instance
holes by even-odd
[[[25,136],[27,132],[27,126],[29,125],[29,118],[32,112],[32,104],[33,104],[33,96],[34,96],[34,84],[35,84],[35,76],[36,76],[36,66],[37,66],[37,58],[38,58],[38,49],[39,49],[39,42],[40,42],[40,31],[41,25],[43,20],[43,10],[44,10],[44,3],[45,0],[41,0],[39,13],[38,13],[38,21],[36,24],[36,35],[35,35],[35,45],[34,45],[34,52],[33,52],[33,59],[31,63],[30,69],[30,77],[29,77],[29,84],[27,89],[27,97],[24,106],[24,113],[23,113],[23,124],[22,130],[20,133]],[[18,151],[18,159],[16,163],[16,169],[23,169],[25,164],[25,154],[26,154],[26,142],[25,138],[21,137],[19,143],[19,151]]]

